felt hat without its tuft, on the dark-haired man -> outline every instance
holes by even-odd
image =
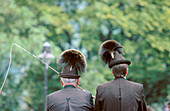
[[[110,63],[108,64],[109,68],[112,68],[115,65],[118,64],[127,64],[130,65],[131,62],[129,60],[126,60],[121,54],[118,52],[115,52],[115,57],[114,59],[111,59]]]

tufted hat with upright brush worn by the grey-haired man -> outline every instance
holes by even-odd
[[[85,72],[86,59],[84,55],[75,49],[64,51],[58,60],[59,64],[64,64],[59,77],[77,79],[80,77],[79,72]]]

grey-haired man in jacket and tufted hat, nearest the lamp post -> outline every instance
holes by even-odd
[[[77,50],[66,50],[61,54],[60,64],[64,64],[60,82],[64,89],[55,91],[46,97],[47,111],[92,111],[92,94],[76,89],[79,83],[78,72],[86,69],[86,59]]]

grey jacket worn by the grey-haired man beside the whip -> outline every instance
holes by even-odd
[[[90,92],[69,85],[46,97],[46,111],[92,111],[93,98]]]

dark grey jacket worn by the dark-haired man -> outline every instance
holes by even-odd
[[[124,78],[97,87],[95,111],[147,111],[142,84]]]

